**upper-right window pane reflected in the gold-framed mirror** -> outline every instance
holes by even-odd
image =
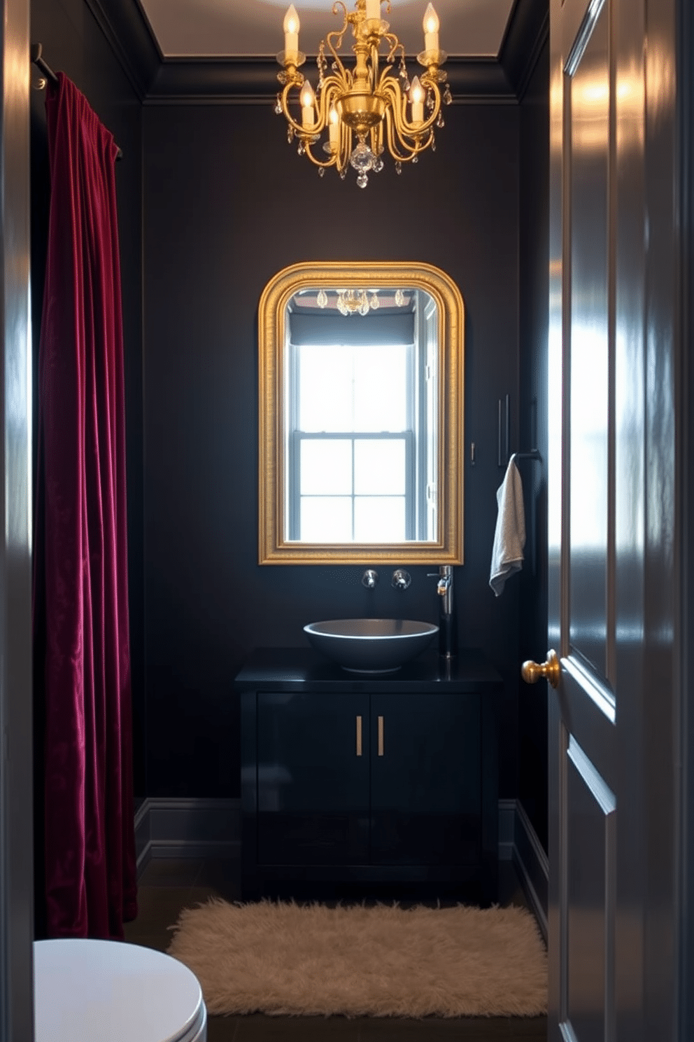
[[[354,430],[405,430],[408,423],[408,365],[405,344],[355,347]]]

